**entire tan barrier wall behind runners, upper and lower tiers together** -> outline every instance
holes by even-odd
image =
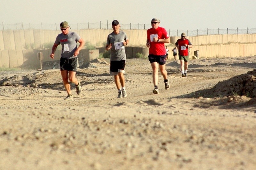
[[[71,30],[77,32],[85,41],[92,45],[102,46],[106,42],[111,30]],[[127,59],[135,58],[137,53],[148,56],[148,48],[145,47],[147,30],[124,30],[130,40],[125,47]],[[52,61],[49,57],[51,49],[44,49],[49,44],[52,46],[60,31],[49,30],[8,30],[0,31],[0,67],[27,67],[38,68],[40,62],[37,53],[43,53],[43,62]],[[170,37],[171,43],[175,44],[180,37]],[[198,51],[199,58],[221,57],[244,57],[256,55],[256,34],[228,34],[187,37],[193,44],[190,49],[190,58],[194,51]],[[250,43],[250,44],[241,44]],[[209,44],[212,44],[211,46]],[[216,44],[216,45],[213,45]],[[227,45],[225,45],[227,44]],[[167,45],[167,44],[166,44]],[[169,55],[172,56],[173,46],[168,46]],[[98,53],[104,53],[105,47],[97,47]],[[80,61],[89,62],[91,58],[97,58],[97,53],[81,50]],[[91,55],[89,55],[91,54]],[[84,58],[84,59],[83,59]],[[55,53],[54,61],[60,60],[60,50]]]

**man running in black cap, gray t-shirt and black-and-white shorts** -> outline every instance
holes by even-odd
[[[120,24],[117,20],[112,22],[112,28],[113,32],[108,35],[106,45],[106,50],[111,50],[109,72],[111,75],[114,75],[116,88],[118,90],[117,98],[122,98],[127,96],[124,87],[124,67],[126,60],[124,46],[128,45],[129,40],[126,36],[126,33],[119,30]]]

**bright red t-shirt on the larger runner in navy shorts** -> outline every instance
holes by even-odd
[[[154,28],[148,29],[147,33],[148,33],[147,39],[150,42],[149,54],[165,55],[164,43],[153,42],[153,38],[157,36],[158,39],[168,39],[169,35],[167,31],[162,27],[158,27],[156,29]]]

